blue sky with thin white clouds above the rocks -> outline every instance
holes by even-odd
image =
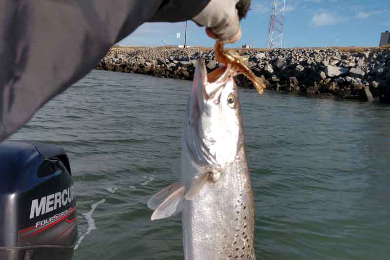
[[[242,37],[227,47],[252,44],[266,47],[273,0],[252,0],[241,21]],[[390,0],[286,0],[283,47],[379,45],[380,34],[390,31]],[[144,23],[119,41],[126,46],[161,46],[184,43],[185,22]],[[180,33],[180,39],[176,39]],[[188,22],[189,46],[214,46],[204,27]]]

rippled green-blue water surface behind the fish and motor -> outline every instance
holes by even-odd
[[[177,180],[190,81],[92,71],[11,139],[61,145],[74,174],[75,260],[181,260],[181,221],[150,221]],[[390,259],[390,107],[241,89],[263,259]],[[223,201],[221,201],[223,203]]]

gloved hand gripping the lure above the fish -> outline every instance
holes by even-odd
[[[206,34],[216,40],[235,42],[241,38],[240,20],[251,0],[211,0],[193,20],[206,26]]]

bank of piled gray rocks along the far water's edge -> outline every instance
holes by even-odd
[[[248,66],[269,89],[390,103],[390,47],[231,51],[246,56]],[[113,47],[96,68],[192,80],[200,58],[206,62],[208,72],[218,67],[210,48]],[[241,87],[253,87],[243,76],[236,80]]]

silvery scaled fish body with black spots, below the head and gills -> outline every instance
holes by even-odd
[[[216,183],[185,203],[182,220],[186,260],[254,259],[254,198],[244,147]]]

